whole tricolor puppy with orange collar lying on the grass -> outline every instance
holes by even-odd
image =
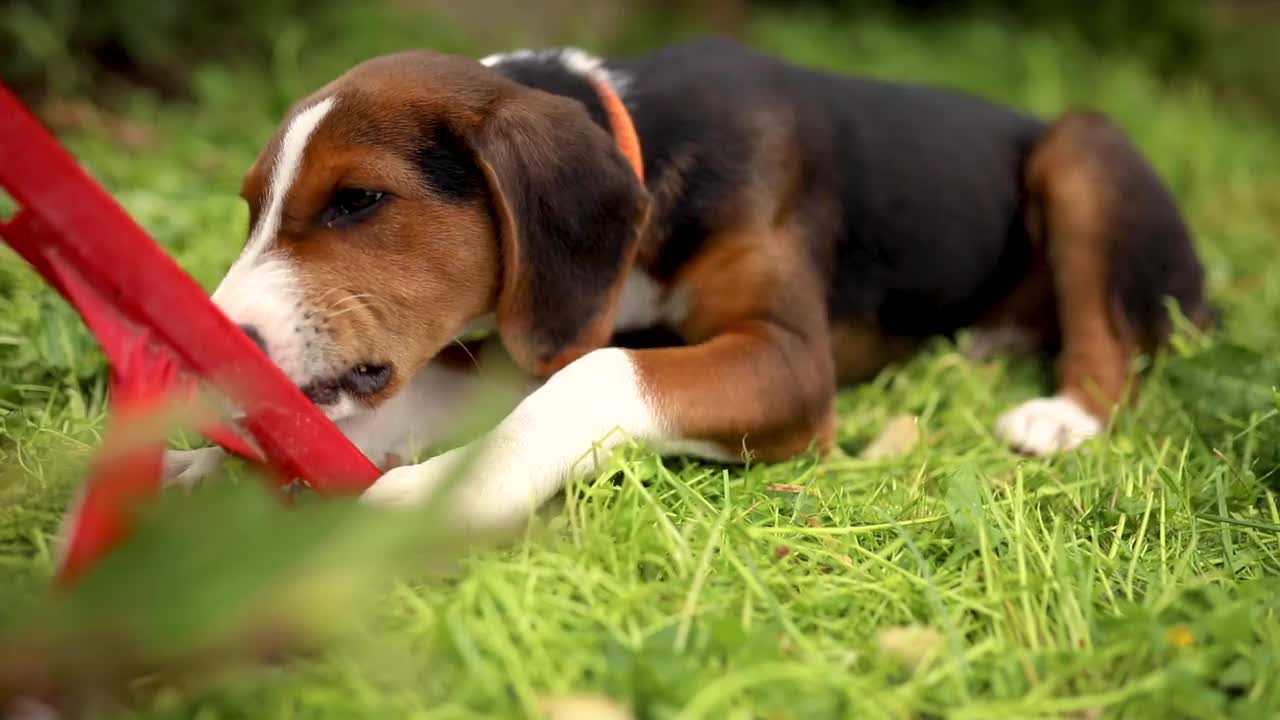
[[[831,448],[838,384],[961,328],[1056,354],[1056,392],[996,432],[1066,450],[1125,401],[1167,297],[1208,316],[1169,191],[1103,117],[728,41],[378,58],[298,102],[243,196],[214,301],[371,457],[447,429],[467,373],[439,356],[476,323],[538,380],[481,441],[458,498],[475,523],[522,518],[627,438],[721,461]],[[650,328],[675,340],[620,340]],[[458,454],[367,497],[426,497]]]

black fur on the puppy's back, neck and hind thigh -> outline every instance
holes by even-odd
[[[726,40],[607,67],[626,78],[650,188],[668,172],[684,177],[676,201],[650,219],[658,247],[645,249],[657,258],[648,270],[659,279],[735,222],[722,209],[760,170],[751,167],[760,109],[788,122],[804,184],[796,217],[827,273],[832,323],[950,334],[1027,272],[1024,165],[1046,132],[1037,118],[946,90],[800,68]],[[577,99],[605,126],[591,86],[549,56],[497,69]],[[1132,237],[1119,245],[1114,291],[1142,332],[1158,333],[1165,295],[1202,302],[1199,265],[1167,191],[1140,159],[1130,165],[1124,188],[1138,206],[1117,228]]]

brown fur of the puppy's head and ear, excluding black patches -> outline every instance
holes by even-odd
[[[307,268],[307,305],[351,363],[371,360],[394,368],[393,382],[378,396],[390,397],[401,383],[431,360],[468,322],[497,311],[499,333],[517,363],[548,375],[607,342],[620,283],[593,302],[594,316],[564,347],[543,347],[540,322],[530,297],[527,243],[538,228],[522,227],[511,211],[512,192],[558,192],[539,173],[575,142],[582,154],[607,156],[608,135],[581,108],[563,97],[497,78],[475,63],[415,53],[371,60],[297,106],[330,95],[338,102],[310,138],[297,181],[285,199],[275,251]],[[378,127],[370,128],[370,119]],[[457,204],[436,196],[412,167],[416,133],[424,123],[444,123],[466,138],[489,183],[488,197]],[[243,195],[256,222],[265,202],[274,138],[244,179]],[[626,178],[641,208],[639,181],[618,159],[611,168]],[[539,188],[539,183],[548,184]],[[392,193],[376,217],[353,228],[325,228],[312,220],[333,190],[353,186]],[[530,191],[530,186],[534,190]],[[643,223],[628,218],[636,237]],[[634,241],[613,272],[622,277]],[[393,322],[389,322],[393,320]]]

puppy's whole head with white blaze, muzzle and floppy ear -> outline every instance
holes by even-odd
[[[645,193],[573,100],[431,53],[298,102],[244,178],[214,302],[333,419],[495,316],[545,375],[607,342]]]

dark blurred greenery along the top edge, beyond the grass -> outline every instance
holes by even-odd
[[[120,85],[191,97],[210,65],[268,68],[289,95],[303,90],[294,85],[300,64],[342,67],[347,51],[374,38],[387,49],[576,41],[621,50],[689,32],[742,35],[760,12],[906,23],[977,15],[1071,36],[1280,109],[1267,60],[1280,27],[1275,0],[9,0],[0,8],[0,73],[33,97],[105,97]]]

